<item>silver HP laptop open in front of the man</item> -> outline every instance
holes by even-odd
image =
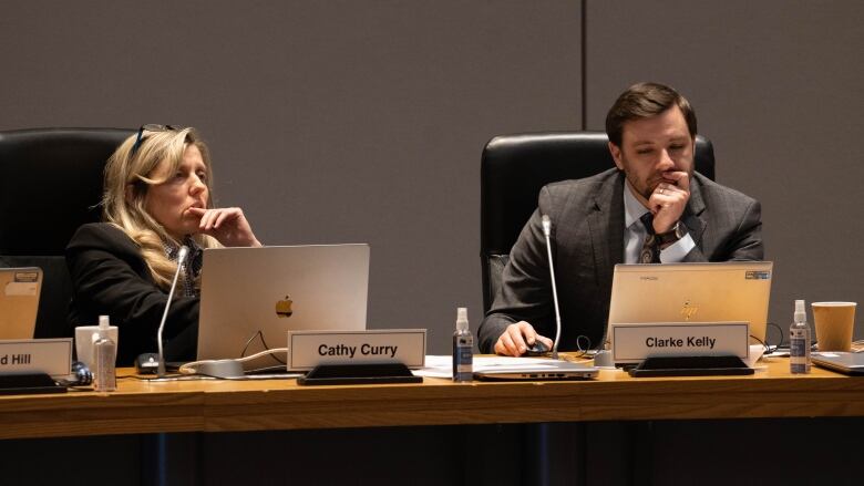
[[[771,261],[616,265],[609,324],[744,321],[751,343],[764,341],[772,271]]]

